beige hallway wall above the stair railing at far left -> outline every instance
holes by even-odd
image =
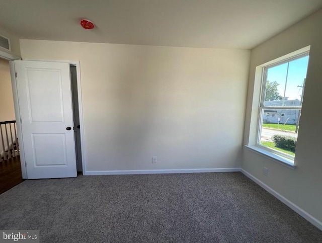
[[[15,119],[9,61],[0,58],[0,121]]]

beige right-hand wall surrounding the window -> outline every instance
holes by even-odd
[[[305,83],[300,132],[296,147],[295,170],[286,168],[253,151],[244,148],[242,168],[280,193],[316,219],[322,221],[322,10],[290,27],[279,35],[252,50],[245,125],[245,144],[256,124],[251,122],[251,112],[256,108],[253,100],[255,68],[258,65],[310,47],[310,59]],[[256,122],[255,122],[256,123]],[[250,141],[252,141],[252,137]],[[263,168],[269,176],[263,175]]]

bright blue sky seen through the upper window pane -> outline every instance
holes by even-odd
[[[287,65],[288,63],[283,63],[281,65],[268,68],[267,70],[267,80],[270,80],[271,82],[276,81],[279,84],[277,89],[282,97],[284,97]],[[288,97],[289,100],[301,100],[302,88],[298,88],[297,86],[303,86],[303,80],[306,77],[307,65],[308,56],[289,62],[285,92],[285,97]]]

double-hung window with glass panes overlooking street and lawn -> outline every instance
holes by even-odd
[[[305,52],[263,67],[257,146],[291,160],[295,156],[308,59]]]

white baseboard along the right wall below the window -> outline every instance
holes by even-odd
[[[264,188],[266,191],[268,191],[270,194],[272,194],[274,197],[279,199],[282,203],[286,204],[288,207],[293,209],[295,212],[297,212],[299,215],[301,215],[303,218],[305,218],[307,221],[309,221],[311,224],[316,226],[318,229],[322,230],[322,222],[314,218],[312,215],[301,209],[299,206],[295,205],[285,197],[283,197],[281,194],[267,186],[265,183],[257,179],[256,177],[252,176],[247,171],[240,169],[240,172],[243,173],[245,176],[250,178],[252,181],[260,185],[262,188]]]

